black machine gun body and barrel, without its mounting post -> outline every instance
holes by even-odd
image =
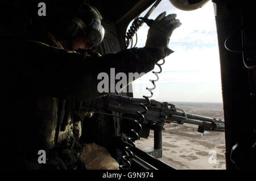
[[[137,111],[143,111],[141,103],[146,104],[146,101],[146,99],[109,94],[101,98],[100,101],[94,101],[89,104],[85,102],[82,107],[93,108],[96,112],[108,110],[137,115]],[[150,105],[147,106],[147,112],[144,113],[144,124],[176,123],[183,125],[188,123],[199,125],[198,132],[201,133],[204,133],[205,130],[224,131],[224,121],[186,113],[168,102],[162,103],[154,99],[151,99],[150,102]]]

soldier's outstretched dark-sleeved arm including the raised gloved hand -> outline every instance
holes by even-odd
[[[34,41],[17,41],[4,37],[1,44],[7,60],[2,67],[13,89],[24,94],[46,94],[58,98],[89,100],[102,95],[97,86],[99,73],[110,68],[115,73],[147,73],[160,59],[172,53],[168,49],[170,36],[181,23],[176,15],[166,12],[152,20],[144,48],[126,49],[102,57],[83,56],[73,51],[49,47]],[[14,46],[15,45],[15,48]],[[127,82],[129,83],[129,82]]]

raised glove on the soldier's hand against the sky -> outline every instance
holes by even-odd
[[[181,26],[180,20],[175,19],[176,16],[176,14],[166,16],[166,12],[163,12],[155,20],[143,19],[150,27],[145,48],[154,52],[156,62],[174,52],[168,48],[168,44],[172,32]]]

